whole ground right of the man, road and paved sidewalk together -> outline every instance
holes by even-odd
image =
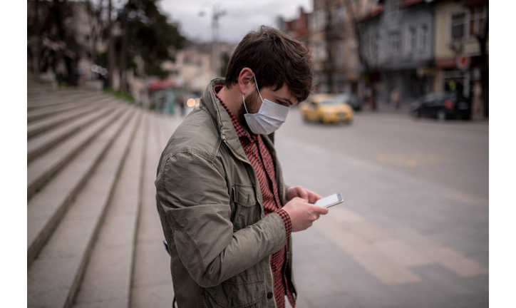
[[[356,113],[276,135],[288,185],[344,203],[294,233],[296,307],[488,307],[489,125]]]

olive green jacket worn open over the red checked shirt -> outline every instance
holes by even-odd
[[[213,86],[172,134],[155,180],[178,307],[276,307],[270,257],[286,243],[279,215],[264,217],[257,175]],[[270,136],[279,198],[282,170]],[[291,277],[289,237],[288,287]]]

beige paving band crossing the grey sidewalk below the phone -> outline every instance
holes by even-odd
[[[420,281],[410,268],[438,264],[459,277],[488,275],[489,269],[410,227],[383,230],[349,209],[331,209],[316,230],[386,285]]]

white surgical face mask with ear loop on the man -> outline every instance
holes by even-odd
[[[257,86],[258,95],[262,99],[262,106],[257,113],[249,114],[247,112],[247,107],[245,106],[244,95],[242,94],[246,112],[244,114],[245,121],[252,133],[269,135],[269,133],[276,131],[285,122],[285,120],[287,120],[287,114],[289,113],[290,108],[277,103],[272,103],[272,101],[267,99],[264,100],[258,89],[258,83],[256,82],[256,76],[254,76],[254,74],[253,77],[254,84]]]

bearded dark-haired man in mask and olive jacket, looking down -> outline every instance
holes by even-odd
[[[272,133],[311,87],[306,48],[262,26],[172,134],[155,185],[178,307],[295,307],[289,235],[328,210],[285,186]]]

